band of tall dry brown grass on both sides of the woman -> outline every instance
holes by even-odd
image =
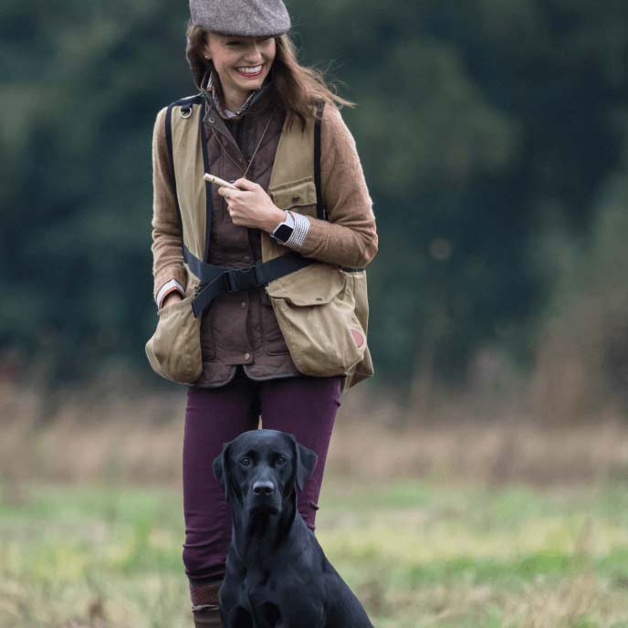
[[[487,483],[588,483],[628,477],[628,424],[539,424],[525,413],[439,408],[398,427],[398,404],[359,390],[343,398],[331,476],[466,479]],[[0,473],[22,482],[110,480],[181,486],[185,392],[67,392],[51,410],[28,389],[0,386]],[[460,418],[463,416],[465,418]]]

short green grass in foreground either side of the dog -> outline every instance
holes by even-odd
[[[323,487],[317,536],[381,628],[628,628],[628,487]],[[0,628],[191,627],[180,493],[0,499]]]

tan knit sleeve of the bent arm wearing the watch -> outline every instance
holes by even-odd
[[[298,252],[328,264],[365,267],[377,253],[378,238],[355,140],[330,104],[320,132],[320,184],[329,221],[308,216],[308,233]]]

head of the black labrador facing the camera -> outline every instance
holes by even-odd
[[[277,430],[251,430],[225,443],[214,474],[228,501],[235,497],[249,513],[278,514],[283,500],[303,485],[317,455],[296,438]]]

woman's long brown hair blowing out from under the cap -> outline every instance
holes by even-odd
[[[191,20],[188,22],[185,56],[194,75],[194,84],[199,90],[205,72],[208,68],[213,68],[212,62],[204,58],[207,34],[208,31],[203,26],[195,25]],[[312,105],[317,100],[340,107],[355,107],[351,100],[343,99],[335,93],[335,86],[327,82],[320,70],[300,65],[297,47],[288,35],[275,37],[275,41],[277,53],[272,66],[272,85],[278,100],[286,109],[288,126],[294,120],[299,120],[305,128],[306,120],[314,115]],[[218,89],[220,93],[219,86]]]

